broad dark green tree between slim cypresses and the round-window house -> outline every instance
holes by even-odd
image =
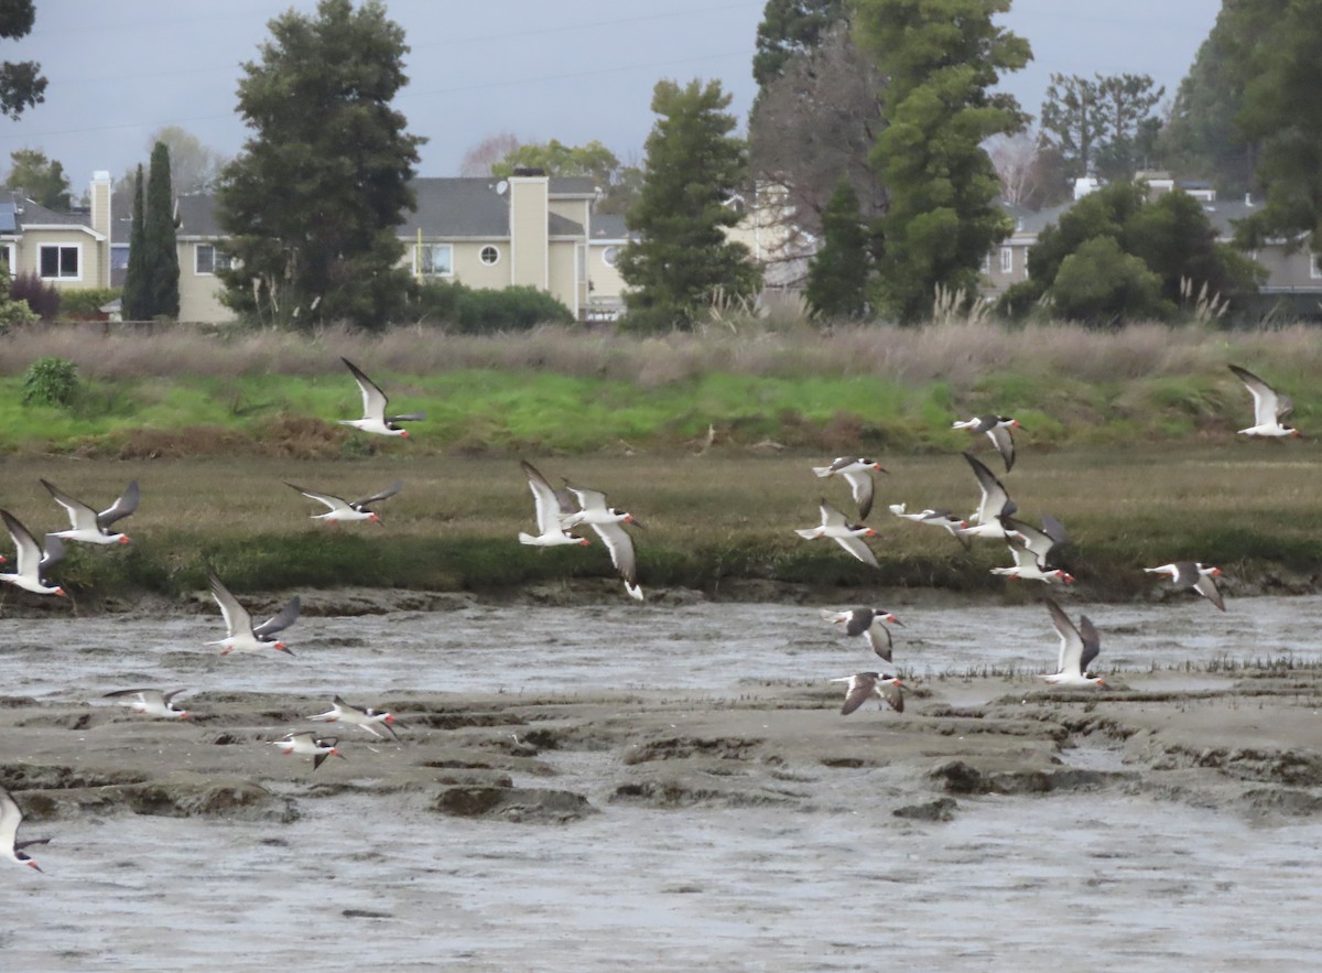
[[[217,193],[235,258],[225,300],[263,320],[379,328],[411,286],[397,227],[416,205],[423,141],[390,107],[407,81],[403,29],[381,0],[320,0],[270,29],[239,81],[253,135]]]

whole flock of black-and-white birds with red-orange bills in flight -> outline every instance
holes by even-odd
[[[345,426],[352,426],[364,432],[407,438],[408,431],[399,423],[420,420],[426,412],[407,412],[387,415],[389,401],[386,394],[353,362],[341,358],[362,394],[362,418],[340,419]],[[1252,426],[1239,430],[1248,436],[1298,436],[1298,430],[1282,424],[1293,410],[1290,399],[1268,386],[1253,373],[1237,365],[1229,366],[1231,371],[1244,382],[1253,397],[1255,422]],[[1011,416],[980,415],[962,422],[953,423],[953,428],[965,428],[973,434],[985,434],[994,444],[997,452],[1005,463],[1009,473],[1014,468],[1015,448],[1011,430],[1019,428],[1019,423]],[[1010,498],[1001,480],[977,459],[972,452],[962,453],[981,490],[981,501],[977,510],[968,517],[960,517],[951,510],[924,509],[910,513],[903,504],[891,505],[890,510],[896,517],[902,517],[915,524],[939,526],[958,538],[961,543],[969,545],[972,538],[992,538],[1003,541],[1009,549],[1013,564],[1007,567],[992,568],[993,574],[1007,578],[1040,580],[1047,584],[1068,584],[1073,576],[1063,566],[1063,550],[1069,538],[1064,525],[1052,517],[1042,518],[1042,527],[1034,527],[1026,521],[1015,517],[1018,506]],[[520,533],[518,539],[524,545],[549,547],[558,545],[587,545],[588,539],[575,530],[591,527],[602,539],[611,554],[612,563],[624,582],[625,592],[637,600],[644,599],[642,588],[637,582],[637,558],[633,541],[625,530],[625,525],[641,527],[642,525],[633,514],[617,510],[607,504],[605,494],[600,490],[575,486],[567,480],[563,488],[553,488],[535,467],[526,460],[521,461],[524,475],[527,477],[529,489],[533,494],[537,534]],[[863,542],[876,531],[869,527],[865,521],[873,509],[875,494],[874,473],[884,473],[883,467],[870,459],[839,457],[826,467],[814,467],[813,472],[822,479],[841,477],[850,488],[850,494],[858,508],[858,522],[851,522],[838,508],[820,501],[821,524],[814,527],[798,529],[796,533],[805,539],[830,538],[836,541],[850,555],[866,564],[879,567],[876,557]],[[48,571],[65,554],[65,542],[79,542],[91,545],[127,545],[131,543],[128,535],[115,530],[115,525],[131,516],[139,505],[137,481],[128,484],[119,498],[104,510],[97,512],[89,504],[77,500],[59,490],[48,480],[41,480],[52,498],[63,508],[69,517],[67,530],[52,531],[45,535],[44,543],[38,545],[33,534],[11,512],[0,509],[0,518],[13,541],[16,550],[15,570],[0,572],[0,582],[7,582],[25,591],[38,595],[63,595],[58,584],[48,580]],[[327,513],[316,514],[313,518],[327,522],[377,521],[378,516],[371,509],[374,504],[399,493],[402,481],[397,481],[386,489],[369,497],[348,501],[330,493],[309,490],[295,484],[287,484],[303,496],[323,504]],[[5,558],[0,555],[0,563]],[[1144,571],[1166,575],[1178,588],[1190,588],[1208,599],[1216,608],[1225,611],[1225,603],[1216,587],[1215,578],[1220,570],[1195,561],[1177,561],[1158,567],[1145,567]],[[297,596],[291,599],[280,611],[260,624],[254,624],[246,608],[225,587],[215,571],[206,566],[208,582],[212,596],[215,599],[225,621],[226,635],[223,639],[206,642],[219,646],[221,654],[231,652],[263,652],[267,649],[283,652],[288,656],[293,653],[280,640],[279,633],[292,625],[301,611]],[[1083,615],[1079,623],[1069,620],[1068,615],[1051,598],[1044,598],[1051,623],[1060,637],[1060,650],[1058,656],[1056,672],[1042,678],[1058,686],[1103,686],[1100,676],[1089,673],[1089,664],[1095,661],[1101,650],[1101,639],[1096,627]],[[861,637],[867,642],[869,649],[887,664],[894,661],[894,637],[890,625],[902,623],[884,608],[863,607],[849,611],[822,609],[825,621],[843,625],[845,633],[850,637]],[[882,706],[890,706],[898,713],[904,710],[904,682],[892,672],[861,672],[853,676],[833,680],[843,682],[845,702],[841,707],[843,715],[849,715],[863,706],[874,697]],[[189,713],[175,705],[175,698],[185,690],[165,693],[160,689],[116,689],[104,694],[103,698],[115,699],[128,705],[134,713],[159,719],[188,719]],[[378,711],[371,707],[358,707],[346,703],[338,695],[333,697],[328,711],[309,717],[308,719],[340,723],[358,727],[378,739],[399,740],[395,727],[403,723],[391,713]],[[338,739],[334,736],[319,736],[316,731],[303,730],[286,734],[279,740],[272,742],[286,755],[301,755],[312,758],[312,768],[316,771],[324,760],[330,756],[345,759],[340,752]],[[21,865],[26,865],[40,871],[37,863],[24,849],[32,845],[41,845],[49,838],[17,841],[19,824],[22,814],[13,797],[0,788],[0,855]]]

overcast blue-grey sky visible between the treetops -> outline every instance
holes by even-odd
[[[455,176],[464,152],[509,131],[526,141],[594,139],[641,161],[658,78],[718,78],[740,123],[765,0],[390,0],[412,49],[397,107],[428,143],[419,175]],[[258,57],[271,17],[315,0],[38,0],[33,32],[0,42],[36,59],[46,100],[0,119],[0,175],[16,148],[59,160],[74,190],[145,163],[152,132],[180,126],[226,156],[243,144],[239,65]],[[1006,24],[1034,62],[1005,87],[1036,114],[1052,71],[1150,74],[1174,94],[1220,0],[1015,0]]]

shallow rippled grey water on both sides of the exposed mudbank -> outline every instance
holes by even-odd
[[[847,605],[839,605],[847,607]],[[890,604],[917,673],[1051,665],[1043,608]],[[1088,605],[1099,668],[1142,672],[1322,650],[1322,598]],[[1068,608],[1072,616],[1079,608]],[[875,661],[816,607],[475,607],[304,619],[297,658],[229,656],[208,615],[0,620],[7,695],[197,690],[562,693],[842,676]],[[1199,678],[1192,674],[1191,681]],[[976,683],[970,693],[977,693]],[[352,698],[352,697],[350,697]],[[3,740],[0,740],[3,747]],[[300,800],[290,825],[79,817],[38,875],[4,865],[0,969],[1307,969],[1322,824],[1110,793],[960,798],[894,818],[911,783],[838,769],[816,810],[607,802],[612,754],[549,754],[603,813],[457,820],[415,795]],[[1105,752],[1071,752],[1105,761]],[[545,779],[516,784],[545,785]],[[293,793],[293,791],[291,791]],[[884,796],[887,800],[876,800]],[[929,797],[929,795],[928,795]],[[32,829],[30,833],[28,829]],[[370,915],[361,915],[362,912]]]

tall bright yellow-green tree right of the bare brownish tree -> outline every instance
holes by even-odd
[[[871,160],[890,194],[876,241],[876,305],[904,320],[931,313],[937,286],[973,295],[992,246],[1013,225],[982,143],[1025,115],[993,94],[1023,67],[1029,44],[993,22],[1010,0],[857,0],[854,29],[887,78]]]

